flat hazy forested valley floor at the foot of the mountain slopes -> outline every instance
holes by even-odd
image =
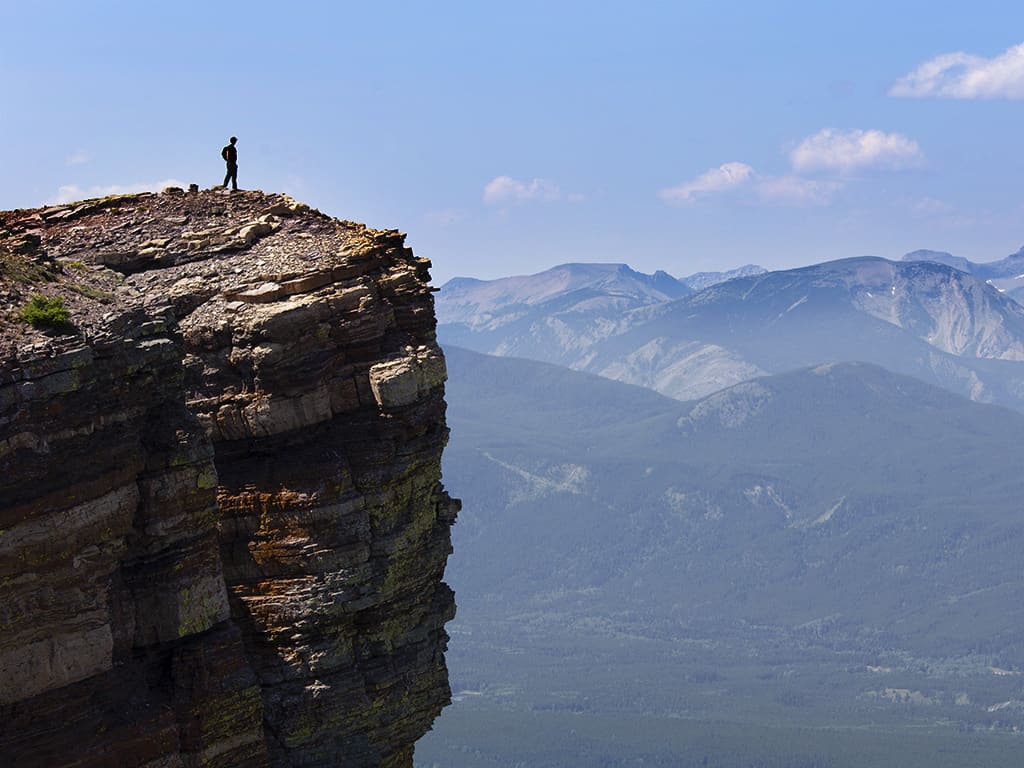
[[[418,768],[995,768],[1024,751],[1022,682],[983,659],[869,665],[518,621],[451,626],[454,702]]]

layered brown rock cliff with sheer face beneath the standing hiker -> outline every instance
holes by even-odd
[[[0,213],[0,763],[412,765],[458,503],[403,237],[258,191]]]

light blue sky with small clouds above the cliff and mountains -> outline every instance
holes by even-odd
[[[1024,6],[0,0],[0,208],[220,181],[443,283],[1024,244]]]

